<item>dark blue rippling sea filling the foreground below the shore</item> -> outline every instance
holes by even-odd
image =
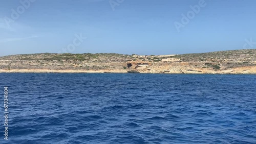
[[[0,143],[256,143],[256,75],[0,74],[0,80],[0,90],[9,86],[10,112],[8,141],[1,114]]]

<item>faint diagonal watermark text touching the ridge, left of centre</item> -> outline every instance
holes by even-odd
[[[87,39],[87,37],[83,37],[82,33],[75,34],[75,38],[73,39],[73,43],[68,44],[67,47],[64,47],[62,50],[58,51],[58,53],[70,53],[74,52],[76,47],[81,45],[82,42]]]

